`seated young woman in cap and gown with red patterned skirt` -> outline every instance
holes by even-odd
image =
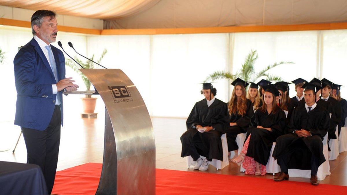
[[[276,104],[279,92],[274,85],[264,86],[264,105],[257,109],[251,118],[250,132],[242,153],[232,160],[246,169],[248,175],[265,175],[272,143],[285,133],[286,115]]]

